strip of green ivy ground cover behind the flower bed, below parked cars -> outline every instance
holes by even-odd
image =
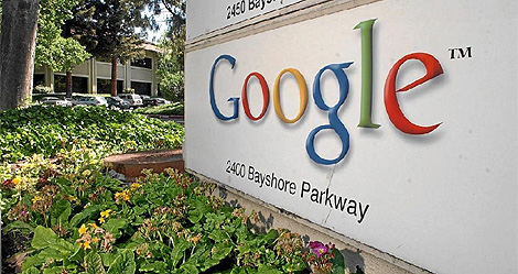
[[[0,112],[0,162],[15,162],[43,154],[96,147],[108,154],[152,149],[176,149],[183,128],[102,107],[61,108],[32,106]]]

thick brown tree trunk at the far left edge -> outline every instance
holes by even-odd
[[[2,1],[0,110],[31,99],[39,4],[40,0]]]

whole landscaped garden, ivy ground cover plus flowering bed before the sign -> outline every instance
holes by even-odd
[[[0,112],[3,273],[344,273],[333,244],[258,233],[214,185],[168,169],[112,178],[114,153],[179,149],[183,128],[106,108]]]

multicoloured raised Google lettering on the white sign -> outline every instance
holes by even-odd
[[[379,124],[376,124],[371,121],[373,28],[374,28],[375,21],[376,19],[363,21],[354,28],[355,30],[360,30],[360,37],[361,37],[361,108],[360,108],[360,119],[359,119],[358,127],[371,128],[371,129],[377,129],[380,127]],[[424,68],[427,69],[427,73],[424,76],[414,80],[413,83],[400,89],[397,89],[396,79],[400,70],[400,67],[407,61],[410,61],[410,59],[416,59],[416,61],[421,62]],[[209,92],[211,107],[212,107],[214,114],[223,121],[229,121],[229,120],[234,120],[238,118],[239,116],[239,99],[240,98],[239,97],[228,98],[228,101],[230,101],[234,107],[234,112],[231,116],[224,116],[219,111],[216,105],[215,91],[214,91],[214,76],[216,73],[217,64],[224,61],[230,63],[231,69],[234,69],[235,67],[236,58],[234,58],[233,56],[224,54],[217,57],[211,69],[208,92]],[[322,164],[322,165],[336,164],[345,157],[349,149],[349,133],[347,131],[347,128],[341,121],[338,117],[338,110],[347,100],[347,95],[349,92],[349,80],[346,74],[346,69],[352,65],[353,65],[353,62],[330,64],[321,68],[314,76],[313,88],[312,88],[313,101],[319,109],[327,112],[327,117],[328,117],[328,124],[322,124],[313,129],[309,133],[306,142],[305,142],[305,149],[306,149],[307,155],[310,156],[311,160],[313,160],[317,164]],[[330,70],[331,73],[333,73],[338,81],[338,102],[334,106],[328,106],[327,103],[325,103],[322,97],[321,78],[322,78],[322,75],[326,70]],[[280,92],[281,92],[280,83],[282,81],[282,76],[284,74],[293,75],[299,86],[299,95],[300,95],[299,113],[292,119],[289,119],[285,117],[281,108],[281,103],[280,103]],[[439,125],[441,125],[441,123],[438,123],[434,125],[422,127],[422,125],[412,123],[403,114],[399,106],[398,98],[396,96],[397,92],[409,91],[412,88],[419,85],[422,85],[441,74],[443,74],[441,64],[435,57],[433,57],[431,54],[428,54],[428,53],[408,54],[403,56],[402,58],[400,58],[398,62],[396,62],[396,64],[389,70],[386,83],[385,83],[385,91],[384,91],[385,109],[387,111],[387,114],[391,123],[401,132],[408,133],[408,134],[427,134],[427,133],[434,131]],[[248,101],[248,81],[252,77],[259,80],[261,91],[262,91],[262,110],[257,116],[253,116],[251,113],[249,101]],[[258,121],[265,117],[270,105],[270,88],[268,86],[267,80],[260,73],[258,72],[250,73],[245,78],[242,88],[241,88],[241,98],[242,98],[242,109],[248,119],[252,121]],[[277,117],[282,122],[295,123],[304,116],[307,101],[309,101],[309,90],[307,90],[307,84],[305,81],[305,78],[296,68],[285,68],[279,73],[273,84],[272,99],[273,99],[273,108],[276,110]],[[335,158],[323,158],[315,151],[314,141],[315,141],[316,134],[323,130],[333,130],[338,135],[342,142],[342,151],[339,155]]]

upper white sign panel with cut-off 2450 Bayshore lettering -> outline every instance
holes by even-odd
[[[190,0],[187,40],[303,0]]]

